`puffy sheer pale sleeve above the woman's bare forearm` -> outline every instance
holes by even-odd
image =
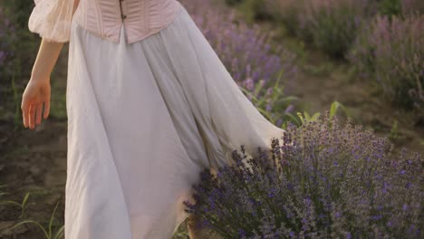
[[[80,0],[34,0],[35,6],[28,21],[32,33],[49,42],[67,43],[73,13]]]

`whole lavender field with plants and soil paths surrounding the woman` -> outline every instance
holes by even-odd
[[[202,173],[205,238],[424,238],[424,3],[179,0],[240,89],[287,130]],[[24,129],[40,43],[30,0],[0,2],[0,238],[62,238],[64,48],[50,118]],[[22,225],[14,225],[26,222]],[[188,238],[187,222],[173,238]]]

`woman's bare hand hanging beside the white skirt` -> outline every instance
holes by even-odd
[[[31,78],[28,81],[21,103],[25,128],[34,129],[35,125],[41,124],[42,114],[43,119],[47,119],[50,112],[50,96],[50,78]],[[44,111],[42,112],[43,106]]]

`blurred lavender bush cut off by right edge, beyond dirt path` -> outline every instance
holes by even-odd
[[[424,16],[377,15],[364,24],[350,60],[400,105],[424,110]]]

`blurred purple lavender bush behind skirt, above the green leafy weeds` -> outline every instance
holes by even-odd
[[[237,22],[234,11],[214,5],[214,1],[187,1],[185,6],[235,81],[269,81],[279,72],[288,77],[294,71],[294,54],[282,46],[272,48],[272,32]]]

